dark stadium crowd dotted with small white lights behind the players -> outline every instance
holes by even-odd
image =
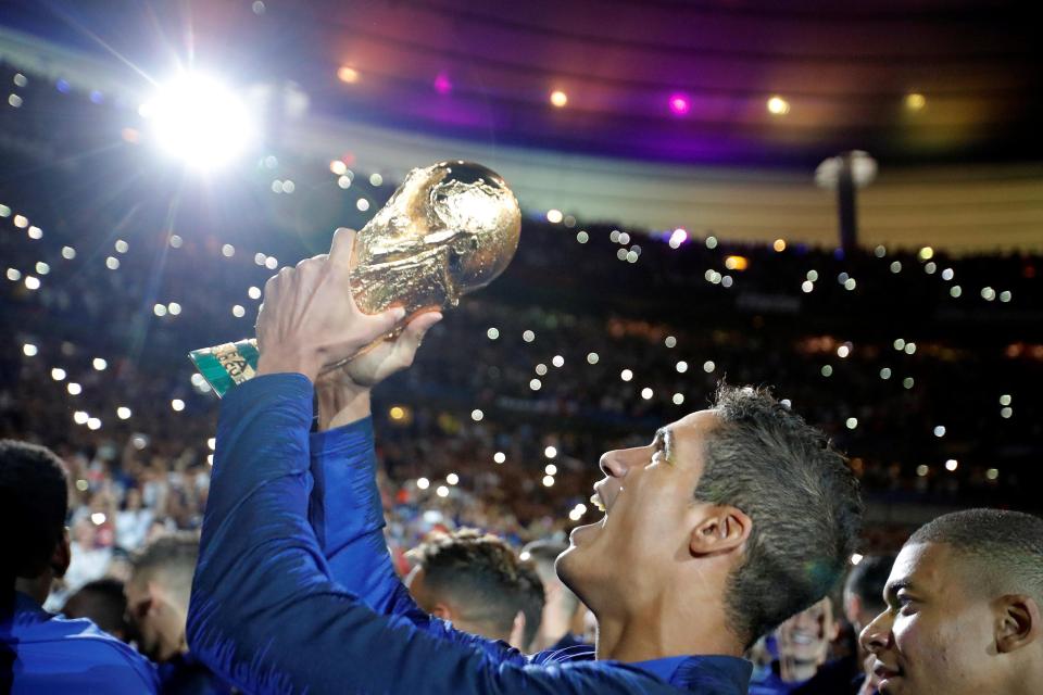
[[[166,664],[165,692],[230,692],[175,664],[219,404],[187,353],[252,336],[266,278],[328,237],[126,215],[92,189],[88,165],[55,151],[88,144],[87,116],[116,136],[125,109],[28,84],[22,112],[0,111],[0,132],[22,143],[5,166],[26,172],[0,186],[0,439],[45,445],[65,471],[71,556],[45,605]],[[134,141],[124,131],[116,147]],[[33,162],[48,150],[61,164],[43,186]],[[393,182],[365,174],[352,191],[378,207]],[[314,186],[332,188],[323,176]],[[779,237],[525,220],[504,277],[447,312],[375,393],[384,538],[397,572],[423,570],[413,591],[427,612],[523,650],[590,643],[593,619],[548,558],[595,518],[602,452],[644,446],[722,379],[771,384],[849,456],[874,521],[844,558],[843,589],[749,652],[750,692],[874,692],[880,673],[866,677],[857,633],[888,609],[893,555],[918,526],[874,510],[1018,507],[1038,494],[1043,257]],[[22,455],[4,446],[0,457]],[[958,523],[934,533],[922,542],[972,545]]]

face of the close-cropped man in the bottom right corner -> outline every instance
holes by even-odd
[[[964,566],[965,567],[965,566]],[[985,592],[950,546],[906,545],[891,576],[888,608],[862,632],[883,695],[982,695],[995,683],[994,616]]]

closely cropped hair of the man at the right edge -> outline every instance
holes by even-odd
[[[954,511],[920,527],[905,542],[918,543],[953,548],[967,563],[973,585],[992,593],[1029,594],[1043,606],[1043,519],[1005,509]]]

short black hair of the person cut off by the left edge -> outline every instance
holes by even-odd
[[[0,528],[11,536],[14,578],[38,577],[62,540],[68,515],[68,479],[51,450],[0,440]]]

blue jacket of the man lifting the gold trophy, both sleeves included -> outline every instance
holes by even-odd
[[[730,656],[640,664],[589,647],[526,656],[423,612],[385,545],[367,418],[309,435],[311,382],[272,375],[222,402],[188,639],[249,693],[745,695]]]

